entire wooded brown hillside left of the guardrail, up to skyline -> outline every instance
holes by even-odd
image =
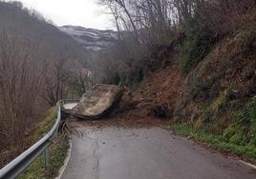
[[[0,1],[1,166],[32,145],[27,138],[41,116],[68,98],[68,79],[75,77],[70,70],[84,65],[86,55],[40,14],[16,1]]]

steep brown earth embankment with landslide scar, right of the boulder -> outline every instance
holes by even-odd
[[[182,134],[255,162],[255,17],[246,16],[238,30],[218,40],[188,73],[170,56],[172,64],[149,74],[115,115],[169,119]]]

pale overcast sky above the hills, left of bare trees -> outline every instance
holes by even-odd
[[[57,26],[74,25],[98,30],[115,29],[112,16],[104,13],[97,0],[19,0],[51,19]]]

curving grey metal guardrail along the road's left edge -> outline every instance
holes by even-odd
[[[36,142],[30,149],[27,149],[14,160],[11,161],[6,167],[0,169],[0,179],[12,179],[19,175],[22,171],[27,169],[32,162],[42,154],[48,146],[53,142],[61,123],[61,108],[63,104],[74,103],[77,100],[60,100],[56,104],[57,118],[53,128],[38,142]]]

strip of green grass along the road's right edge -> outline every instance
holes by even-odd
[[[232,153],[256,163],[256,146],[254,145],[246,144],[240,146],[232,144],[221,135],[215,135],[203,129],[193,129],[191,126],[185,124],[172,123],[171,129],[182,136],[191,137],[200,143],[206,143],[213,149]]]

